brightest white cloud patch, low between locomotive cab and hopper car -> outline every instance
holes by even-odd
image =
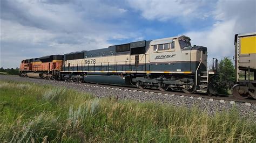
[[[232,56],[234,51],[234,25],[235,20],[228,20],[214,24],[210,30],[187,32],[185,35],[192,39],[192,45],[207,47],[209,58]]]

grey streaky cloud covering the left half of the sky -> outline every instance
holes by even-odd
[[[100,1],[1,1],[0,67],[50,54],[105,48],[109,40],[140,37],[111,20],[127,9]]]

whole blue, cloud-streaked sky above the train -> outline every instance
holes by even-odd
[[[255,0],[1,0],[0,67],[24,59],[187,35],[232,59],[234,34],[256,32]]]

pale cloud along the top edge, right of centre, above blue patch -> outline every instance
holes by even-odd
[[[192,20],[208,17],[208,10],[212,2],[196,1],[169,1],[169,0],[142,0],[127,1],[131,8],[140,12],[140,15],[149,20],[166,21],[172,18]],[[184,19],[185,18],[185,19]]]

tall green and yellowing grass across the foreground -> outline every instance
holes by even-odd
[[[96,98],[71,89],[0,81],[0,141],[256,142],[256,125],[231,112]]]

